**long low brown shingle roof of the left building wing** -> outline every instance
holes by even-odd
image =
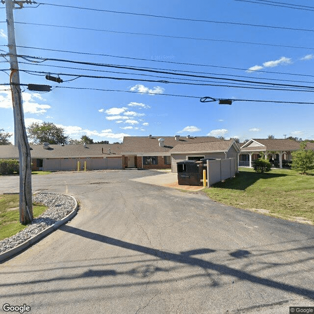
[[[75,145],[30,145],[31,158],[86,158],[86,157],[121,157],[122,144],[82,144]],[[109,154],[110,148],[110,154]],[[0,158],[19,158],[18,148],[13,145],[0,145]]]

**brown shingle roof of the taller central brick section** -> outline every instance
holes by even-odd
[[[158,138],[164,138],[164,147],[159,147]],[[123,154],[131,153],[167,153],[179,143],[200,143],[217,141],[213,136],[186,138],[180,136],[176,141],[174,136],[125,136],[123,138]]]

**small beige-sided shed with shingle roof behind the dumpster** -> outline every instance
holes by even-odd
[[[212,159],[235,159],[235,172],[237,172],[237,156],[240,148],[234,139],[215,140],[199,143],[178,144],[169,151],[171,154],[172,172],[177,172],[177,162],[184,160],[201,160],[203,158]]]

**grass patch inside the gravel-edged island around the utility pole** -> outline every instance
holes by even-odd
[[[38,217],[46,206],[33,204],[33,216]],[[27,225],[20,224],[19,195],[0,195],[0,240],[17,234]]]

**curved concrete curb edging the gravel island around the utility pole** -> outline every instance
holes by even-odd
[[[43,193],[43,194],[60,194],[60,193],[50,193],[50,192],[40,192],[40,193]],[[65,216],[63,219],[57,221],[53,225],[49,226],[47,229],[41,231],[39,234],[32,236],[31,238],[29,238],[28,240],[26,240],[22,244],[15,246],[14,248],[12,248],[10,250],[7,250],[3,253],[0,253],[0,262],[3,262],[4,260],[7,260],[7,259],[11,258],[12,256],[24,251],[27,247],[38,242],[40,239],[42,239],[46,235],[49,235],[54,230],[58,229],[61,225],[65,224],[66,222],[71,220],[77,214],[77,212],[78,212],[77,200],[72,195],[68,195],[68,194],[63,194],[63,195],[67,195],[67,196],[70,196],[73,198],[73,200],[75,202],[75,206],[74,206],[73,210],[67,216]]]

